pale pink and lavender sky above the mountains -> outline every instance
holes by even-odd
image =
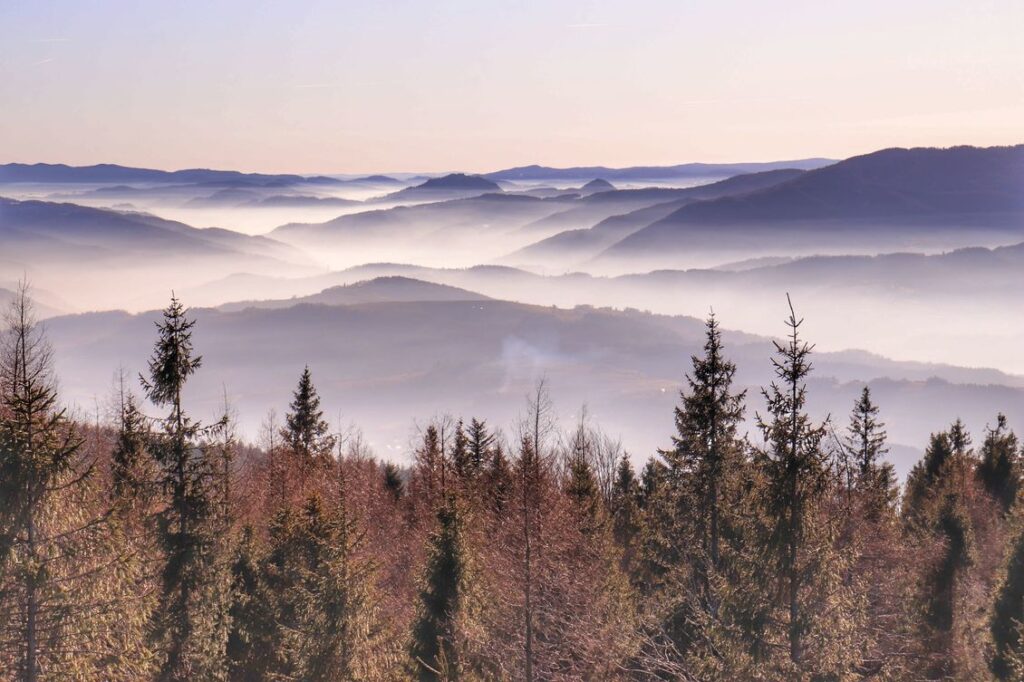
[[[0,0],[0,163],[485,172],[1024,142],[1021,0]]]

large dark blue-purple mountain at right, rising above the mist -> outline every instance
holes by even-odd
[[[815,246],[890,247],[936,235],[1024,235],[1024,145],[884,150],[744,195],[683,206],[610,247],[652,257],[730,247],[792,253]],[[957,232],[959,232],[957,235]]]

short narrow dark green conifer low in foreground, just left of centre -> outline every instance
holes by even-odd
[[[437,510],[413,628],[413,671],[420,680],[458,680],[456,622],[467,572],[462,512],[450,496]]]

